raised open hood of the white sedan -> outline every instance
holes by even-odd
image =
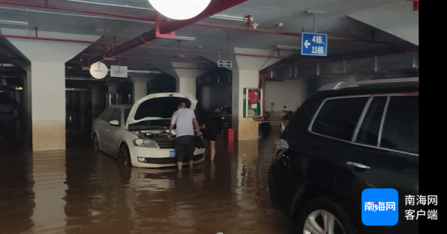
[[[195,109],[197,99],[193,95],[184,93],[153,93],[147,95],[133,104],[129,117],[127,117],[126,128],[130,124],[155,119],[168,119],[173,116],[180,102]]]

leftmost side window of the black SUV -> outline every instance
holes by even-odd
[[[312,132],[351,141],[368,99],[343,97],[326,100],[312,124]]]

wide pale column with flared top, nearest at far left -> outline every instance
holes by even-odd
[[[30,30],[1,28],[4,34],[29,36]],[[99,36],[39,32],[46,38],[96,41]],[[6,38],[7,45],[28,58],[26,92],[32,121],[32,149],[65,150],[65,62],[89,45]],[[31,107],[31,108],[29,108]]]

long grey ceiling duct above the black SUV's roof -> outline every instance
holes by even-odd
[[[272,79],[406,71],[419,71],[417,52],[273,67]]]

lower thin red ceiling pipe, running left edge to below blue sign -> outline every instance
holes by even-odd
[[[59,38],[44,38],[44,37],[34,37],[34,36],[14,36],[14,35],[5,35],[1,34],[0,37],[5,38],[19,38],[19,39],[28,39],[28,40],[50,40],[50,41],[60,41],[65,43],[83,43],[83,44],[94,44],[94,45],[110,45],[110,46],[119,46],[120,44],[114,43],[105,43],[105,42],[97,42],[97,41],[87,41],[87,40],[69,40],[69,39],[59,39]],[[175,49],[175,48],[167,48],[167,47],[153,47],[153,46],[140,46],[145,49],[163,49],[163,50],[171,50],[171,51],[184,51],[196,54],[221,54],[219,51],[206,51],[206,50],[194,50],[194,49]],[[221,54],[228,55],[228,54]],[[279,57],[279,56],[263,56],[257,54],[232,54],[235,56],[248,56],[248,57],[259,57],[259,58],[281,58],[281,59],[293,59],[287,57]]]

